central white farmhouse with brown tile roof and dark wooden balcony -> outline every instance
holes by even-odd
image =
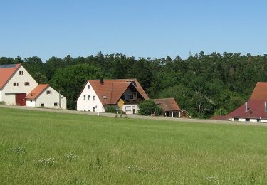
[[[122,110],[135,114],[140,101],[147,100],[147,94],[136,79],[88,80],[77,100],[77,110],[105,112],[107,106],[118,108],[122,99]]]

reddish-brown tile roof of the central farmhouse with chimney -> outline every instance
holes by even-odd
[[[132,84],[133,87],[137,90],[140,95],[147,100],[148,96],[143,90],[142,86],[136,79],[112,79],[112,80],[103,80],[103,84],[100,83],[100,80],[88,80],[92,88],[95,90],[96,95],[102,102],[103,105],[112,105],[117,104],[118,100],[122,94],[127,90],[127,88]],[[106,99],[103,98],[106,97]]]

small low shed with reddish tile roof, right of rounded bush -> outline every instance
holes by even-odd
[[[162,107],[162,114],[167,117],[181,117],[181,109],[174,98],[163,98],[153,100]]]

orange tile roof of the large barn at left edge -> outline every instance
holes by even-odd
[[[16,70],[21,67],[21,64],[9,64],[9,65],[0,65],[0,89],[4,88],[6,83],[16,72]]]

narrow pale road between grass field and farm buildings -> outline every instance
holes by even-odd
[[[21,109],[21,110],[35,110],[35,111],[44,111],[44,112],[58,112],[66,114],[80,114],[80,115],[100,115],[107,117],[115,117],[113,113],[102,113],[102,112],[82,112],[76,110],[56,110],[56,109],[46,109],[46,108],[36,108],[36,107],[21,107],[13,105],[0,105],[0,108],[9,108],[9,109]],[[204,119],[189,119],[189,118],[177,118],[177,117],[157,117],[157,116],[142,116],[142,115],[128,115],[129,118],[135,119],[146,119],[146,120],[166,120],[174,122],[194,122],[194,123],[214,123],[214,124],[228,124],[228,125],[245,125],[245,122],[230,122],[223,120],[204,120]],[[248,122],[248,125],[262,125],[267,126],[267,123],[259,122]]]

